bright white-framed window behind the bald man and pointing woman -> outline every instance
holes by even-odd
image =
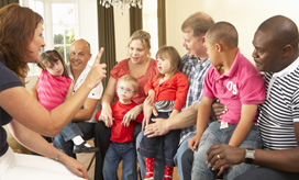
[[[20,4],[43,16],[45,49],[57,49],[68,63],[69,46],[78,36],[77,0],[21,0]],[[29,66],[29,76],[36,75],[38,70],[36,65]]]

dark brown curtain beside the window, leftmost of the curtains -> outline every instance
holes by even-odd
[[[107,78],[103,81],[103,88],[106,89],[110,70],[115,66],[115,37],[114,37],[114,15],[113,8],[104,8],[98,4],[98,26],[99,26],[99,47],[104,48],[101,61],[107,64]]]

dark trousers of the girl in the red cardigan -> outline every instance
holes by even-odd
[[[168,112],[158,112],[157,116],[152,115],[151,119],[168,119]],[[153,123],[152,120],[150,124]],[[159,151],[159,144],[163,142],[163,153],[165,164],[168,167],[175,167],[174,157],[177,153],[179,144],[179,130],[169,131],[167,134],[157,137],[143,136],[140,144],[140,154],[144,157],[156,158]]]

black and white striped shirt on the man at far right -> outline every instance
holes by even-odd
[[[297,147],[294,123],[299,122],[299,58],[284,70],[265,74],[266,100],[258,126],[264,149]]]

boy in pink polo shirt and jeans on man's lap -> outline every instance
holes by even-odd
[[[258,116],[257,105],[265,99],[263,76],[240,53],[237,32],[232,24],[219,22],[209,29],[206,47],[212,67],[204,78],[203,97],[197,116],[197,134],[188,142],[191,150],[198,147],[195,151],[192,179],[217,179],[217,172],[206,164],[207,150],[212,145],[262,148],[255,123]],[[204,131],[215,98],[228,106],[228,112]],[[221,159],[221,155],[217,157]],[[218,175],[222,173],[224,168],[229,167],[222,167]],[[234,179],[251,168],[253,166],[247,164],[231,166],[223,177]]]

